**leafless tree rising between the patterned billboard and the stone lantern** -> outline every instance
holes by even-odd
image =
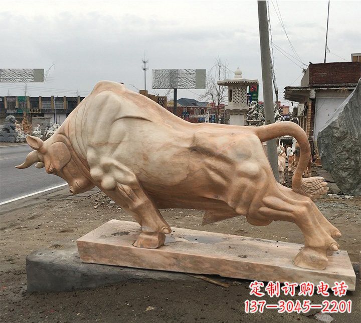
[[[227,102],[227,86],[219,85],[217,81],[228,79],[230,70],[227,61],[216,58],[215,65],[209,70],[206,76],[206,91],[200,96],[201,100],[212,101],[216,108],[216,122],[220,119],[221,104]]]

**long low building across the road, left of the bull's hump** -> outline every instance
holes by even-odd
[[[45,123],[62,124],[65,118],[85,97],[29,97],[29,96],[5,96],[0,97],[0,117],[6,118],[13,115],[18,121],[23,119],[25,112],[28,118],[42,118]],[[55,108],[55,109],[54,109]],[[39,121],[40,122],[40,121]]]

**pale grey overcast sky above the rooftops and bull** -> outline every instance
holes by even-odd
[[[277,5],[300,61],[323,63],[327,2],[269,2],[274,44],[296,56]],[[358,1],[330,2],[328,48],[333,54],[327,54],[327,62],[350,61],[351,53],[361,52],[360,12]],[[230,70],[239,67],[244,78],[262,81],[256,1],[12,0],[0,1],[0,14],[0,68],[47,70],[54,64],[47,82],[28,84],[27,95],[87,95],[100,80],[143,89],[144,50],[149,92],[151,69],[208,71],[217,56],[227,60]],[[299,85],[303,65],[273,52],[283,99],[285,86]],[[198,99],[202,93],[179,90],[178,98]],[[24,95],[24,84],[0,84],[0,95],[8,94]]]

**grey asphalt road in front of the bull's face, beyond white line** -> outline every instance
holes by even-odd
[[[0,203],[66,183],[44,168],[17,169],[32,149],[28,145],[0,147]]]

